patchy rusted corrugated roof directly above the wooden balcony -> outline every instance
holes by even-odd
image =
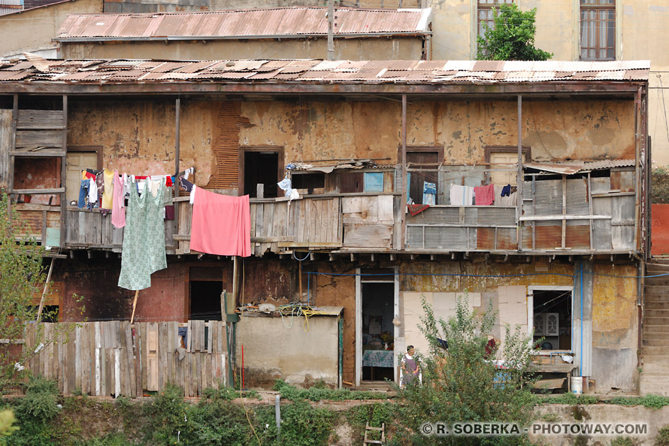
[[[504,82],[513,80],[514,82],[547,82],[557,81],[556,77],[532,77],[530,72],[518,77],[518,72],[488,72],[473,70],[473,61],[433,61],[431,64],[421,64],[415,61],[363,61],[362,63],[351,63],[349,61],[330,61],[323,64],[320,60],[284,60],[284,61],[210,61],[203,62],[164,62],[157,66],[148,61],[98,61],[85,66],[79,61],[46,61],[38,56],[33,56],[29,62],[9,62],[4,63],[5,67],[0,69],[0,81],[24,82],[62,82],[63,77],[70,76],[69,82],[85,83],[100,82],[109,80],[121,83],[142,82],[144,91],[146,91],[148,81],[151,82],[181,82],[205,80],[210,82],[212,79],[235,79],[235,82],[258,82],[261,80],[284,82],[406,82],[410,84],[456,84],[467,82],[469,84],[489,84],[491,82]],[[458,63],[453,63],[458,62]],[[471,62],[471,63],[469,63]],[[445,70],[434,68],[438,64],[444,63],[446,67],[460,67],[455,74],[445,75]],[[468,63],[468,64],[467,64]],[[510,62],[505,62],[505,65]],[[541,63],[532,62],[532,70],[541,68]],[[574,75],[571,77],[560,77],[560,82],[569,84],[570,82],[580,81],[578,77],[581,71],[589,67],[587,62],[574,62]],[[602,62],[604,64],[608,62]],[[614,70],[615,61],[607,68],[608,71]],[[578,65],[582,64],[582,65]],[[320,66],[318,70],[312,68]],[[466,68],[469,67],[469,68]],[[579,68],[580,67],[580,68]],[[638,80],[647,80],[648,75],[645,70],[649,67],[649,61],[636,61],[636,70],[639,72]],[[8,75],[6,72],[15,72]],[[79,78],[72,75],[81,72],[89,73],[88,76]],[[269,72],[275,72],[269,75]],[[388,77],[384,77],[387,72]],[[154,77],[162,73],[163,76]],[[258,77],[262,73],[262,76]],[[315,75],[318,73],[318,75]],[[506,77],[500,77],[505,75]],[[508,77],[511,76],[511,77]],[[146,84],[144,84],[146,82]],[[588,83],[602,82],[601,79],[586,80]],[[601,84],[603,89],[608,89]],[[553,91],[556,91],[553,86]]]

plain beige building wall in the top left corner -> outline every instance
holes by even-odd
[[[68,14],[102,13],[102,0],[72,0],[0,16],[0,57],[56,47]]]

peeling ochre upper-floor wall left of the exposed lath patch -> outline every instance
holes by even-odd
[[[180,166],[197,166],[195,183],[215,171],[213,141],[220,102],[181,102]],[[172,100],[72,100],[68,145],[103,147],[103,167],[134,175],[174,174]]]

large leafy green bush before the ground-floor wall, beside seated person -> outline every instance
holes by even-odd
[[[422,299],[425,317],[421,332],[430,343],[430,354],[420,359],[422,383],[413,380],[398,389],[397,430],[393,444],[405,445],[521,445],[527,436],[456,437],[424,436],[424,422],[508,422],[519,429],[534,418],[531,389],[531,338],[519,326],[506,328],[501,350],[488,345],[496,314],[470,312],[459,299],[456,314],[448,321],[434,317]],[[447,341],[448,351],[442,345]],[[487,347],[487,351],[486,351]],[[427,353],[427,352],[424,352]],[[495,355],[502,365],[495,362]],[[522,430],[521,430],[522,432]]]

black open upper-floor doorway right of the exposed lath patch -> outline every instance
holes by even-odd
[[[283,171],[282,155],[281,148],[261,147],[240,150],[240,176],[244,195],[261,198],[258,196],[258,185],[263,185],[262,198],[279,197],[277,183],[282,179],[279,178]]]

